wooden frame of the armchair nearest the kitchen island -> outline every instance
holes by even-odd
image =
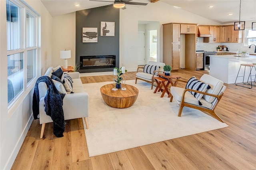
[[[176,86],[178,81],[182,81],[184,83],[187,83],[187,81],[184,81],[184,80],[175,80],[174,81],[174,85]],[[216,103],[214,103],[214,105],[212,106],[211,109],[208,109],[208,108],[205,108],[205,107],[201,107],[201,106],[197,106],[197,105],[193,105],[193,104],[190,104],[190,103],[185,103],[184,102],[184,99],[185,99],[185,93],[188,92],[188,91],[194,91],[196,93],[201,93],[201,94],[204,94],[204,95],[208,95],[208,96],[212,96],[212,97],[216,97],[217,98],[217,101]],[[172,102],[172,99],[173,99],[173,96],[172,96],[172,93],[171,94],[171,98],[170,98],[170,102]],[[183,93],[182,93],[182,99],[180,101],[180,109],[179,109],[179,113],[178,113],[178,117],[181,116],[181,113],[182,113],[182,109],[184,106],[186,107],[190,107],[190,108],[193,108],[193,109],[198,109],[204,113],[209,113],[212,117],[214,117],[215,119],[217,119],[218,121],[220,122],[223,122],[222,119],[220,119],[220,117],[214,112],[214,109],[216,108],[216,106],[218,105],[220,99],[222,98],[223,96],[223,92],[221,92],[219,95],[212,95],[210,93],[205,93],[205,92],[202,92],[202,91],[197,91],[197,90],[192,90],[192,89],[184,89]]]

